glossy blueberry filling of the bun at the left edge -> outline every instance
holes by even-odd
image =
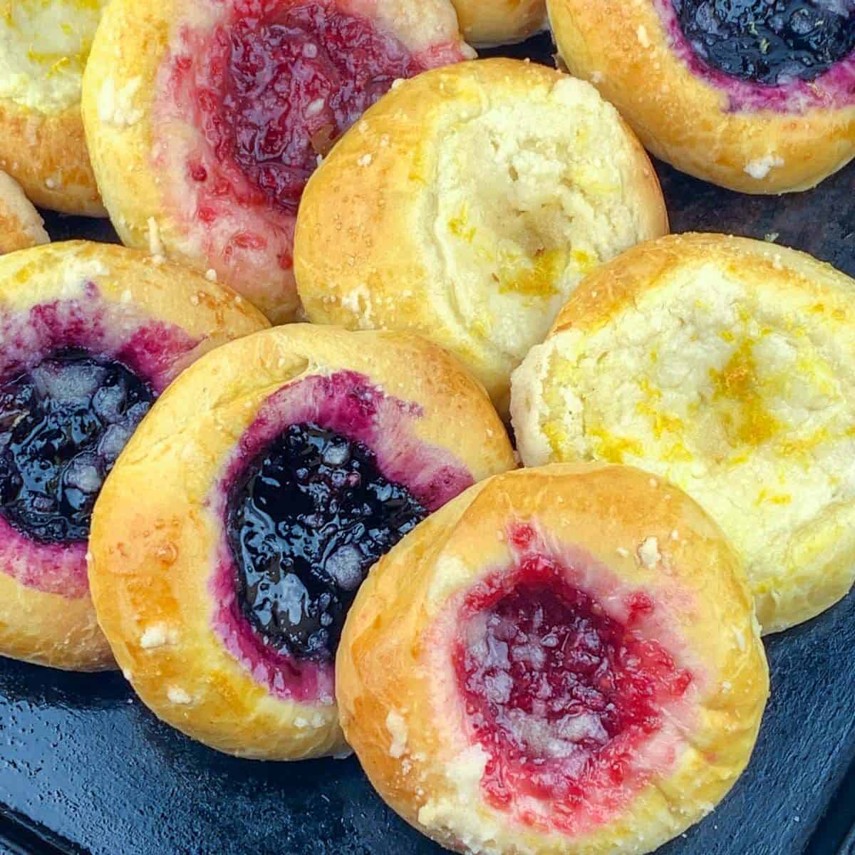
[[[42,543],[86,540],[104,478],[154,400],[130,369],[57,351],[0,386],[0,498]]]

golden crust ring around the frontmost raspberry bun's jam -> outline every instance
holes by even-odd
[[[662,604],[699,684],[685,750],[668,773],[572,836],[510,821],[486,803],[483,757],[476,762],[467,744],[459,688],[437,649],[461,593],[513,563],[513,522],[529,523],[558,551],[580,548],[627,590]],[[744,574],[721,531],[666,482],[601,465],[498,475],[439,510],[372,569],[336,668],[345,736],[380,795],[443,846],[492,855],[652,851],[733,785],[769,687]]]

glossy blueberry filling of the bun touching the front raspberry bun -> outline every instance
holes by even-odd
[[[229,497],[245,616],[278,652],[332,659],[371,565],[427,513],[365,445],[311,423],[286,428]]]

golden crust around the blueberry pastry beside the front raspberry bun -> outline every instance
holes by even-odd
[[[419,404],[417,437],[450,452],[475,480],[515,465],[486,393],[439,347],[407,334],[295,324],[188,369],[133,436],[97,503],[90,581],[116,661],[156,715],[222,752],[298,759],[345,751],[332,699],[276,696],[227,651],[209,587],[223,531],[210,497],[239,441],[281,387],[342,370]]]

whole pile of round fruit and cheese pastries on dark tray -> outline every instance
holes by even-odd
[[[855,579],[855,282],[669,235],[646,150],[816,185],[855,156],[853,21],[6,3],[0,654],[118,667],[240,757],[352,750],[457,852],[704,817],[761,634]],[[546,27],[562,70],[475,58]]]

